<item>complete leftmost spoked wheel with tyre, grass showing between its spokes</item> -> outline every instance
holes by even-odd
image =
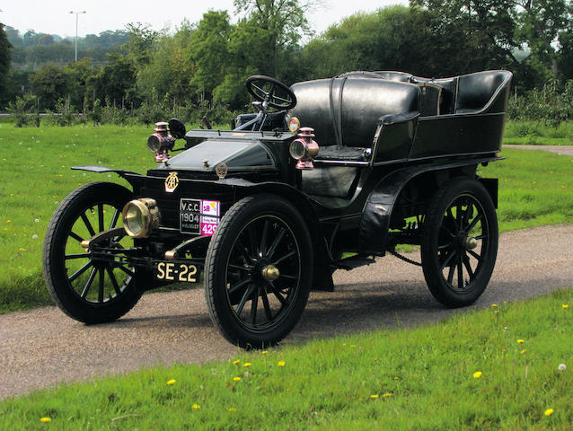
[[[43,252],[48,292],[77,321],[114,321],[141,296],[133,280],[134,268],[123,254],[110,252],[130,247],[129,237],[118,233],[92,253],[81,245],[97,233],[119,227],[121,210],[130,198],[131,192],[118,184],[86,184],[64,199],[48,225]]]

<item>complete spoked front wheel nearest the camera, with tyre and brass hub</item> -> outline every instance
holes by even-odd
[[[209,243],[205,289],[212,321],[240,347],[285,338],[300,319],[313,278],[303,217],[272,195],[243,198]]]

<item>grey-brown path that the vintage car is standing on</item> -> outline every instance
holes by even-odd
[[[503,234],[494,277],[471,308],[573,286],[572,243],[573,225]],[[446,310],[436,303],[421,269],[392,256],[369,267],[337,271],[335,285],[334,293],[311,294],[286,344],[411,327],[468,310]],[[237,347],[209,321],[202,290],[145,295],[123,319],[89,327],[55,307],[14,312],[0,315],[0,399],[142,366],[201,363],[236,354]]]

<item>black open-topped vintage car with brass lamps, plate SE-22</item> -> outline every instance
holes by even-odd
[[[225,339],[260,348],[287,336],[311,289],[333,289],[336,269],[415,244],[421,263],[401,258],[436,300],[473,303],[498,251],[498,180],[477,168],[501,159],[511,77],[351,72],[288,87],[251,76],[257,114],[230,130],[157,123],[146,174],[73,168],[131,189],[95,182],[61,203],[44,245],[48,291],[99,323],[146,290],[203,280]]]

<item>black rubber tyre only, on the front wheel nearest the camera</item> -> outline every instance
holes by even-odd
[[[242,325],[231,308],[226,292],[226,265],[242,227],[254,218],[265,215],[279,216],[294,233],[300,247],[301,279],[293,303],[280,324],[266,331],[255,331]],[[209,315],[223,337],[247,349],[276,345],[300,320],[313,280],[313,248],[303,216],[290,202],[275,195],[242,198],[226,212],[217,226],[207,249],[205,268],[205,297]]]

